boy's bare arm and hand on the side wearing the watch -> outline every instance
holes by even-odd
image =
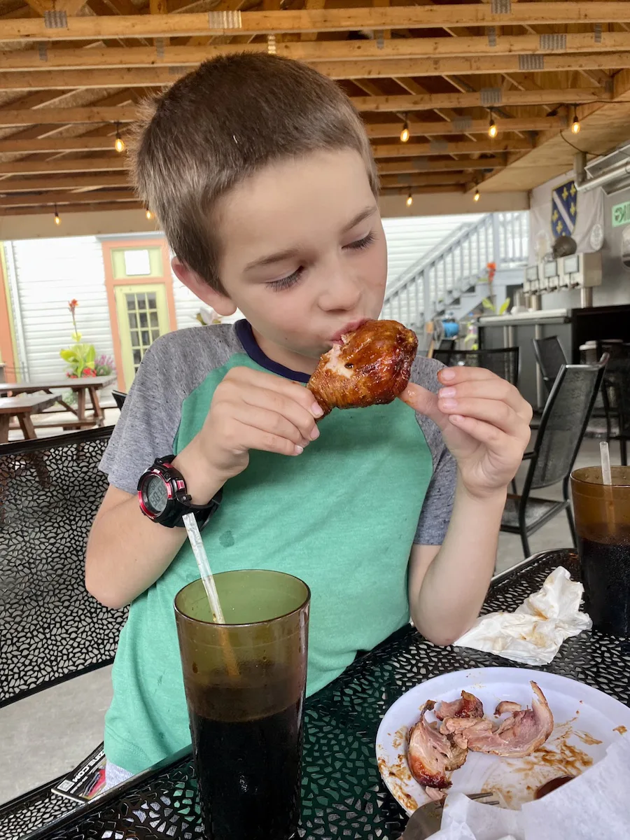
[[[247,467],[249,449],[301,454],[318,438],[315,417],[321,415],[306,388],[258,370],[232,368],[214,391],[202,430],[173,466],[184,476],[193,503],[207,504]],[[129,489],[138,477],[127,478]],[[212,519],[207,527],[213,527]],[[137,496],[110,485],[87,543],[87,590],[106,606],[129,604],[164,574],[185,538],[185,528],[151,522]]]

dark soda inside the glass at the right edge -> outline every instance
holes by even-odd
[[[578,537],[585,609],[593,627],[613,636],[630,637],[630,528],[606,526],[591,538]]]

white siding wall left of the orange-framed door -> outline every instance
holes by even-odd
[[[22,315],[24,378],[38,381],[62,376],[60,349],[72,344],[68,302],[74,297],[76,326],[97,356],[113,355],[100,241],[94,236],[27,239],[6,243],[15,268]],[[25,364],[24,364],[25,363]]]

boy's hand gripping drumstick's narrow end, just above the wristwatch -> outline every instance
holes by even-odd
[[[201,432],[177,458],[193,498],[204,496],[204,484],[209,490],[217,477],[223,484],[242,472],[249,464],[249,449],[302,454],[319,437],[315,418],[322,414],[311,391],[295,382],[247,367],[232,368],[214,391]],[[208,471],[212,478],[204,482],[202,474]]]

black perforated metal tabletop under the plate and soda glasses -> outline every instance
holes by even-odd
[[[513,611],[559,565],[577,575],[575,552],[543,552],[498,575],[484,612]],[[386,790],[375,759],[376,731],[386,710],[405,691],[431,677],[460,669],[509,665],[518,667],[468,648],[437,648],[412,627],[404,627],[309,697],[299,837],[400,837],[407,816]],[[554,661],[541,669],[580,680],[630,705],[630,645],[623,639],[596,631],[580,633],[564,642]],[[183,750],[92,803],[76,806],[59,796],[54,801],[50,791],[35,790],[20,802],[19,813],[27,814],[27,819],[13,811],[15,819],[5,836],[29,840],[201,840],[196,790],[191,756]],[[14,803],[12,807],[17,806]],[[33,831],[42,825],[43,812],[48,825]],[[8,816],[0,808],[0,826],[10,823]]]

